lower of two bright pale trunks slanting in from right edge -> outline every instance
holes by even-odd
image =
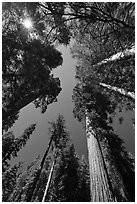
[[[117,93],[120,93],[121,95],[125,96],[125,97],[128,97],[130,99],[133,99],[135,100],[135,93],[133,92],[127,92],[125,91],[124,89],[122,88],[118,88],[118,87],[115,87],[115,86],[110,86],[108,84],[105,84],[105,83],[99,83],[100,86],[103,86],[103,87],[106,87],[108,88],[109,90],[112,90],[112,91],[115,91]]]

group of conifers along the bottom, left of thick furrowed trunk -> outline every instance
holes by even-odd
[[[3,201],[90,201],[88,164],[76,154],[63,116],[51,123],[49,132],[42,159],[37,157],[23,173],[21,164],[4,171]]]

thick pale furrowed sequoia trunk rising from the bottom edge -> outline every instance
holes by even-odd
[[[91,202],[115,202],[117,200],[113,193],[103,155],[95,137],[95,132],[89,124],[90,121],[86,115]]]

